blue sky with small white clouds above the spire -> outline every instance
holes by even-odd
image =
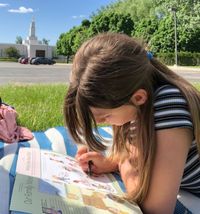
[[[61,33],[81,24],[83,19],[116,0],[0,0],[0,43],[26,39],[35,20],[38,40],[55,45]]]

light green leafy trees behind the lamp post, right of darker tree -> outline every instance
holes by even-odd
[[[197,0],[124,0],[111,4],[105,10],[130,14],[135,24],[132,36],[142,37],[150,42],[156,51],[173,52],[174,20],[170,11],[172,8],[177,10],[178,50],[199,52],[200,2]],[[105,10],[99,13],[106,13]]]

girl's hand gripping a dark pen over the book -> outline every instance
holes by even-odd
[[[92,161],[92,173],[101,174],[113,172],[118,169],[118,163],[112,162],[101,153],[89,151],[86,146],[80,147],[75,157],[83,171],[88,172],[88,162]]]

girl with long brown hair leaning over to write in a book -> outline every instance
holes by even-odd
[[[179,188],[200,195],[200,94],[132,38],[100,34],[75,55],[65,120],[83,170],[119,169],[144,213],[173,213]],[[112,159],[97,123],[113,126]]]

